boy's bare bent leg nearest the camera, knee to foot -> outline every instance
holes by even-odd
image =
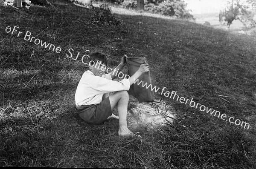
[[[118,135],[134,135],[127,127],[127,106],[129,101],[129,95],[127,91],[119,91],[109,96],[111,109],[113,110],[117,104],[119,115],[119,130]]]

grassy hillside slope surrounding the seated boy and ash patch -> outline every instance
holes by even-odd
[[[131,15],[119,15],[123,20],[119,27],[88,26],[90,11],[65,3],[55,6],[33,6],[29,15],[0,6],[0,166],[256,165],[255,37],[181,20]],[[29,31],[60,46],[61,54],[7,34],[6,26],[19,26],[23,36]],[[81,52],[78,60],[66,57],[69,48]],[[250,129],[168,98],[164,99],[175,108],[178,119],[155,129],[131,126],[141,133],[142,141],[116,136],[116,120],[87,125],[73,108],[76,86],[86,70],[81,56],[87,49],[110,54],[111,66],[123,54],[145,56],[154,85],[244,120]],[[229,96],[230,103],[218,95]]]

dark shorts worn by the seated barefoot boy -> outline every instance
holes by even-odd
[[[90,124],[100,124],[112,115],[109,97],[99,104],[76,106],[79,116]]]

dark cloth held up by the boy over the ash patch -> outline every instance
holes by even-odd
[[[128,75],[131,77],[140,68],[141,64],[146,63],[145,57],[129,57],[126,58],[126,65],[128,67]],[[154,101],[154,91],[151,91],[150,72],[143,73],[138,81],[130,86],[129,95],[136,97],[140,103]],[[138,83],[140,83],[138,85]],[[146,84],[147,83],[147,84]],[[145,85],[143,87],[143,84]],[[150,86],[149,86],[150,85]],[[148,89],[147,89],[147,86]],[[152,86],[153,87],[153,86]]]

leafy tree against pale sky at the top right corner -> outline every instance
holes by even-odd
[[[253,16],[256,14],[256,0],[229,0],[227,7],[219,14],[224,18],[227,27],[230,27],[233,20],[240,20],[245,27],[255,27]]]

